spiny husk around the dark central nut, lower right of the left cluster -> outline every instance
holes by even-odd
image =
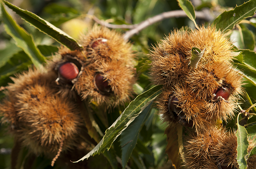
[[[102,81],[95,78],[98,74]],[[83,99],[88,97],[91,102],[116,106],[129,100],[135,81],[133,69],[121,61],[112,60],[111,63],[105,61],[84,67],[75,89]]]

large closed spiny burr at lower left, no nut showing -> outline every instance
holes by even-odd
[[[36,154],[55,155],[62,141],[63,151],[72,149],[86,131],[79,106],[57,93],[55,78],[54,73],[30,69],[12,78],[0,104],[2,121],[10,123],[15,137]]]

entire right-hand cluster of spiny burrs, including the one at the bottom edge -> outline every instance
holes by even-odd
[[[188,168],[237,167],[236,136],[215,129],[217,123],[234,116],[242,94],[243,76],[232,67],[232,47],[221,31],[208,26],[173,31],[151,51],[151,80],[163,85],[157,100],[163,120],[173,127],[192,127],[182,157]]]

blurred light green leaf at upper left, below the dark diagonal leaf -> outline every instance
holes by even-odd
[[[34,38],[12,19],[5,10],[2,2],[1,9],[5,31],[15,40],[16,46],[23,49],[30,57],[35,67],[39,68],[41,64],[45,62],[45,58],[35,45]]]

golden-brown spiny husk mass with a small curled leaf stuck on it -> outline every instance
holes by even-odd
[[[206,48],[196,69],[190,67],[192,47]],[[165,91],[178,98],[179,107],[187,121],[192,119],[196,131],[204,130],[211,121],[226,121],[234,115],[234,104],[242,93],[242,75],[230,63],[231,48],[220,31],[208,26],[173,31],[151,51],[151,80],[154,84],[163,84]],[[224,93],[223,88],[228,91]],[[168,99],[159,96],[157,101],[165,121],[174,119],[166,111]]]

